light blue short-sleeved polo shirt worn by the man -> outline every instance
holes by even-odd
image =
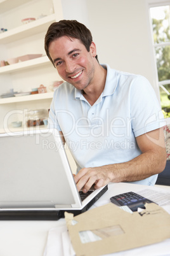
[[[107,69],[105,89],[91,106],[81,90],[63,83],[55,90],[49,127],[62,131],[82,167],[127,162],[141,154],[136,137],[164,126],[154,89],[140,75]],[[157,175],[134,183],[154,185]]]

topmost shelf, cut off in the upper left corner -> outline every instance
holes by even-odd
[[[0,13],[10,11],[22,4],[29,2],[30,0],[0,0]]]

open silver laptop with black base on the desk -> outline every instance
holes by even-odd
[[[0,135],[0,220],[58,220],[78,215],[107,190],[81,200],[58,131]]]

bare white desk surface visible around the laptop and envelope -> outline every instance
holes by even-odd
[[[152,187],[129,183],[109,184],[108,191],[95,203],[95,206],[98,206],[99,203],[109,203],[110,197],[116,194],[129,191],[138,192],[144,188]],[[154,188],[163,189],[162,186]],[[0,256],[42,256],[49,229],[57,227],[63,222],[63,219],[59,221],[0,221]]]

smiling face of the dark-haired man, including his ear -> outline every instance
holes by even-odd
[[[89,52],[79,39],[62,36],[49,44],[49,54],[58,74],[79,90],[93,83],[96,63],[96,46],[91,43]]]

